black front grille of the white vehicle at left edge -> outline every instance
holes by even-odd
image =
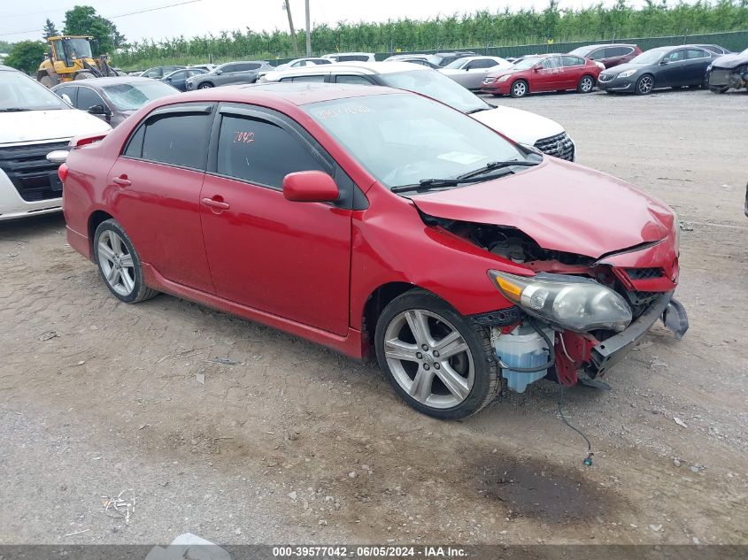
[[[67,142],[0,147],[0,169],[27,203],[59,198],[62,196],[59,165],[50,164],[46,157],[50,151],[66,149]]]

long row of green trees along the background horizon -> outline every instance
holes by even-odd
[[[48,20],[47,24],[49,26],[51,22]],[[544,10],[522,8],[510,11],[505,8],[498,12],[482,10],[423,21],[389,19],[375,23],[341,21],[333,26],[322,24],[312,29],[311,39],[314,53],[324,54],[345,50],[394,52],[489,48],[743,29],[748,29],[748,0],[698,0],[688,4],[682,0],[646,0],[642,7],[635,7],[627,0],[617,0],[611,6],[599,3],[576,9],[561,9],[558,0],[549,0]],[[66,12],[64,30],[74,35],[94,35],[98,41],[97,50],[112,54],[113,63],[125,68],[201,62],[208,57],[217,61],[286,58],[293,52],[287,31],[258,32],[250,27],[224,31],[219,35],[178,36],[127,44],[114,24],[96,15],[96,10],[90,6],[76,6]],[[305,32],[302,30],[297,35],[300,35],[299,44],[304,44]],[[20,44],[16,43],[13,51]],[[41,60],[42,42],[35,45],[35,53]],[[11,62],[6,61],[7,64]]]

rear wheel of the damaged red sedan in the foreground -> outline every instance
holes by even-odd
[[[94,255],[104,284],[120,301],[138,303],[158,295],[145,285],[140,257],[117,220],[96,227]]]

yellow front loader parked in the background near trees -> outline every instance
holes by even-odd
[[[50,50],[36,71],[36,80],[51,88],[63,81],[120,75],[105,55],[93,57],[91,39],[80,35],[50,37]]]

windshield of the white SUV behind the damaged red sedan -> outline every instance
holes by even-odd
[[[428,70],[409,70],[380,76],[384,85],[390,88],[407,89],[447,104],[458,111],[490,109],[480,97],[470,93],[443,73]]]

